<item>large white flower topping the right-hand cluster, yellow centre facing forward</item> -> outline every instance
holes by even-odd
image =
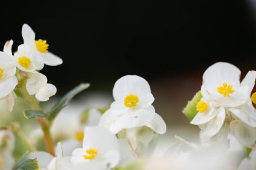
[[[241,71],[227,62],[217,62],[203,73],[201,91],[207,100],[223,107],[236,107],[247,101],[249,87],[240,83]]]

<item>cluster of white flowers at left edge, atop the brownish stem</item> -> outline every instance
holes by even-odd
[[[46,40],[35,40],[35,33],[27,24],[22,27],[24,44],[18,46],[16,52],[11,48],[13,40],[5,43],[0,52],[0,99],[5,100],[9,111],[13,109],[15,93],[13,90],[26,84],[30,95],[39,101],[47,101],[55,95],[57,89],[47,83],[47,78],[38,73],[45,65],[61,65],[62,60],[48,52]]]

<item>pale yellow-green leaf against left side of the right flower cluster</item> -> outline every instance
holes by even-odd
[[[203,96],[201,95],[201,91],[198,91],[193,99],[187,103],[186,108],[183,109],[183,114],[185,114],[189,120],[193,120],[197,114],[196,106],[202,97]]]

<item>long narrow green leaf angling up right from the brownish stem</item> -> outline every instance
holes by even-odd
[[[65,106],[69,103],[69,101],[71,101],[71,99],[73,97],[75,97],[75,95],[77,95],[78,93],[80,93],[81,91],[84,91],[85,89],[87,89],[88,87],[90,87],[89,83],[82,83],[81,85],[78,85],[77,87],[75,87],[74,89],[72,89],[71,91],[69,91],[49,112],[48,114],[48,119],[49,120],[53,120],[58,114],[59,112],[65,108]]]

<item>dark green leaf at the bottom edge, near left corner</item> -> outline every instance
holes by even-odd
[[[28,154],[24,155],[12,170],[39,170],[39,164],[36,159],[29,159]]]

